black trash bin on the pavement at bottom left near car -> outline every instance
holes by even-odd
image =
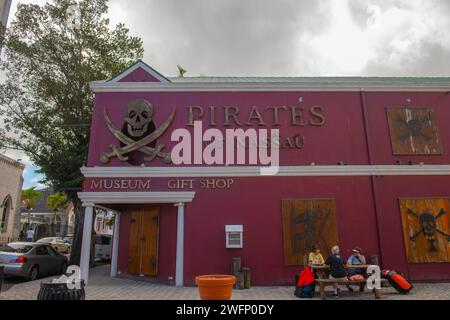
[[[69,289],[65,283],[41,282],[38,300],[70,301],[85,300],[84,280],[81,280],[80,289]]]

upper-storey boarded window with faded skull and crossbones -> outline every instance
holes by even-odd
[[[441,154],[434,109],[388,108],[394,155]]]

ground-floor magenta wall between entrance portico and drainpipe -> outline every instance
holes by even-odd
[[[254,284],[292,283],[298,268],[284,266],[282,199],[335,198],[343,253],[360,245],[367,255],[378,254],[369,192],[365,177],[236,179],[229,191],[199,192],[186,212],[186,284],[198,274],[229,273],[235,256],[252,268]],[[225,248],[227,224],[244,225],[244,249]]]

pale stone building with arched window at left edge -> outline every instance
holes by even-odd
[[[0,244],[19,235],[19,206],[25,166],[0,154]]]

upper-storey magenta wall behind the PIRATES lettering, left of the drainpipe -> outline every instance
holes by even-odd
[[[298,102],[303,97],[304,103]],[[364,124],[360,97],[357,93],[98,93],[96,95],[92,137],[89,149],[88,166],[102,165],[100,155],[108,151],[110,144],[117,144],[114,136],[105,126],[103,108],[106,107],[112,122],[121,127],[124,118],[124,108],[132,99],[145,98],[155,107],[156,125],[160,125],[168,117],[172,108],[177,108],[176,119],[168,132],[161,140],[167,146],[167,150],[174,143],[170,142],[170,132],[177,128],[187,128],[187,106],[236,106],[241,109],[243,122],[247,121],[247,115],[253,106],[265,110],[268,106],[296,106],[305,108],[305,120],[311,120],[308,110],[312,106],[320,105],[324,108],[327,124],[323,127],[293,127],[288,124],[289,113],[285,112],[281,117],[282,126],[280,134],[293,136],[302,134],[306,138],[304,150],[281,150],[281,162],[285,165],[309,165],[316,162],[318,165],[336,165],[339,161],[348,164],[363,164],[367,160],[366,143],[364,139]],[[270,112],[267,122],[271,119]],[[244,120],[245,119],[245,120]],[[217,115],[217,121],[223,120],[223,114]],[[204,120],[207,128],[207,118]],[[225,129],[218,126],[219,129]],[[258,126],[254,126],[258,128]],[[269,129],[271,127],[269,126]],[[272,127],[277,128],[277,127]],[[324,148],[324,145],[327,147]],[[126,164],[113,159],[107,166],[124,166]],[[162,161],[156,160],[154,166],[164,166]]]

